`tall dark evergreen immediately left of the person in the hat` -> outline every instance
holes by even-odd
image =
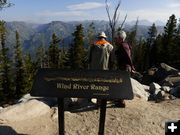
[[[85,52],[84,52],[84,34],[82,24],[76,27],[76,31],[72,34],[74,36],[73,42],[73,69],[83,69],[85,66]]]

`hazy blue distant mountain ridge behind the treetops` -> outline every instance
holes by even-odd
[[[88,20],[88,21],[52,21],[47,24],[30,24],[26,22],[7,22],[6,27],[8,33],[6,36],[7,46],[10,48],[10,55],[12,55],[13,46],[16,43],[15,31],[18,30],[20,33],[21,44],[24,52],[29,52],[35,55],[40,45],[44,44],[45,48],[48,49],[49,43],[51,42],[52,34],[55,33],[59,39],[64,39],[66,48],[72,43],[72,33],[75,31],[77,25],[82,24],[84,27],[84,33],[87,33],[89,24],[93,22],[95,26],[95,33],[99,31],[109,31],[108,21],[99,20]],[[135,22],[134,22],[135,24]],[[133,25],[126,24],[124,27],[125,31],[133,30]],[[151,26],[151,25],[150,25]],[[150,26],[138,25],[137,39],[140,37],[147,38],[147,32]],[[163,26],[157,26],[158,32],[163,32]],[[108,35],[108,34],[107,34]]]

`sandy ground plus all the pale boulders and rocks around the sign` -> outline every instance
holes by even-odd
[[[133,78],[126,108],[107,104],[105,135],[164,135],[166,120],[180,120],[179,70],[162,63]],[[65,135],[97,135],[100,110],[93,103],[68,107],[72,102],[65,100]],[[0,107],[0,135],[58,135],[56,99],[27,94]]]

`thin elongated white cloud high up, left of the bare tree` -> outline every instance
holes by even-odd
[[[75,4],[75,5],[69,5],[67,8],[69,10],[88,10],[88,9],[93,9],[93,8],[99,8],[99,7],[104,7],[105,4],[103,3],[98,3],[98,2],[85,2],[81,4]]]

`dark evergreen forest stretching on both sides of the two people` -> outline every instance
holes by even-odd
[[[4,6],[11,6],[10,3],[3,2],[6,1],[0,1],[1,9]],[[96,27],[93,22],[89,25],[86,34],[82,24],[76,26],[72,33],[73,41],[68,45],[69,48],[65,48],[64,39],[60,39],[56,33],[53,33],[48,48],[45,49],[42,42],[36,50],[36,59],[33,59],[30,53],[23,52],[20,40],[23,35],[20,35],[18,30],[14,35],[13,54],[8,55],[9,48],[6,44],[8,29],[5,24],[5,21],[0,20],[0,106],[11,104],[29,93],[39,68],[88,69],[88,46],[96,40]],[[131,45],[136,71],[142,73],[162,62],[179,69],[180,19],[178,20],[172,14],[161,34],[157,33],[156,25],[153,23],[148,30],[147,38],[136,38],[137,27],[138,21],[133,30],[126,31],[126,41]],[[110,39],[109,42],[112,41]],[[113,43],[113,46],[116,48],[116,43]]]

